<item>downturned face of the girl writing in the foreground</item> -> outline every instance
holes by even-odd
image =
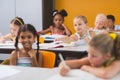
[[[108,54],[101,53],[98,49],[88,46],[88,58],[91,66],[101,67],[109,59]]]

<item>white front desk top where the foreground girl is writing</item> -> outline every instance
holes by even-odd
[[[36,68],[0,65],[0,80],[105,80],[80,69],[72,69],[66,76],[58,68]],[[112,79],[120,80],[120,73]]]

